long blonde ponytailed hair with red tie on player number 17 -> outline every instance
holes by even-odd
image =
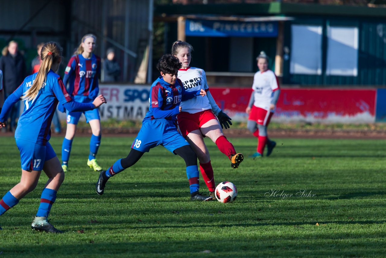
[[[42,60],[39,71],[32,86],[25,92],[23,100],[31,101],[39,93],[40,89],[46,85],[47,73],[52,64],[58,62],[62,57],[63,48],[56,42],[50,41],[42,46],[40,58]]]

